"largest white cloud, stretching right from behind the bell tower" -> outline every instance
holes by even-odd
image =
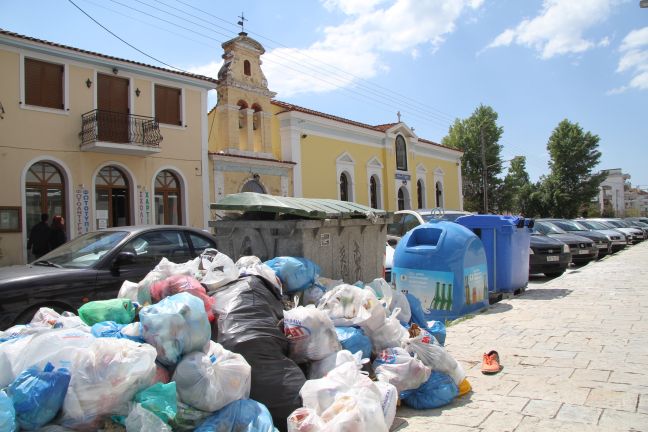
[[[434,52],[457,21],[484,0],[322,0],[347,15],[323,29],[310,47],[277,48],[264,57],[264,72],[279,97],[349,87],[387,70],[385,53],[412,57]],[[322,65],[333,65],[333,67]]]

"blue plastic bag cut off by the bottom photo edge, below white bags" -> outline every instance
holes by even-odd
[[[272,416],[265,405],[240,399],[207,417],[195,432],[275,432]]]

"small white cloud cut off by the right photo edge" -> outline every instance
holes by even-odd
[[[621,42],[619,52],[621,58],[617,72],[629,72],[633,76],[627,85],[612,89],[608,94],[623,93],[631,89],[648,90],[648,27],[628,33]]]

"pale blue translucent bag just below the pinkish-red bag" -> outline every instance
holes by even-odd
[[[183,354],[199,351],[211,337],[204,304],[189,293],[145,306],[139,316],[144,340],[155,347],[165,366],[177,364]]]

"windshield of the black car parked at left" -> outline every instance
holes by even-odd
[[[84,234],[43,255],[32,264],[64,268],[92,267],[127,235],[126,231]]]

